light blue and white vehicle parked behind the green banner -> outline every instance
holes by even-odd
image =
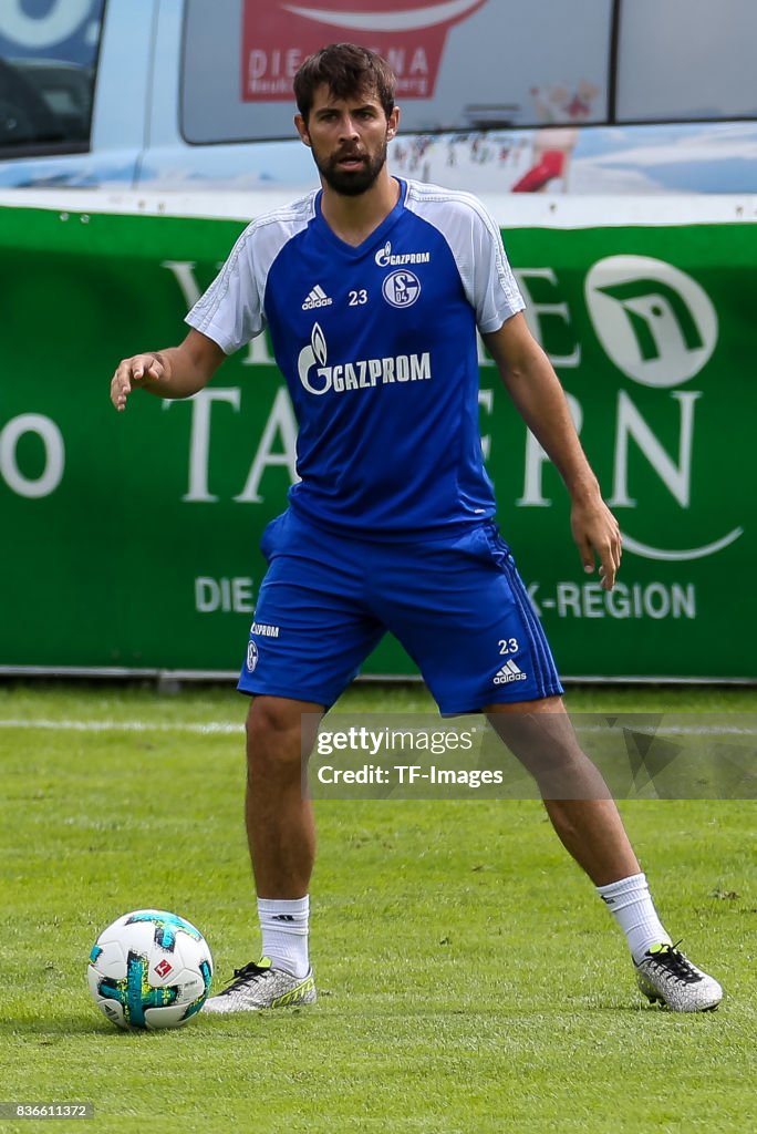
[[[398,73],[400,174],[757,192],[754,0],[2,0],[0,186],[312,186],[291,77],[334,40]]]

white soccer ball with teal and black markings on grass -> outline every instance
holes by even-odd
[[[205,1004],[213,958],[205,938],[177,914],[136,909],[100,934],[87,980],[118,1027],[178,1027]]]

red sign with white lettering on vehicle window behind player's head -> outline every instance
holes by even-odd
[[[398,99],[431,99],[454,24],[486,0],[245,0],[243,102],[288,102],[292,79],[328,43],[359,43],[384,57]],[[263,10],[261,10],[263,9]]]

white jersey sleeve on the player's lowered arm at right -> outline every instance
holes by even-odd
[[[469,301],[483,335],[499,331],[526,304],[502,246],[500,230],[479,201],[471,198],[471,277]]]

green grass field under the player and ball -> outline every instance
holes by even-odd
[[[570,703],[754,712],[757,694],[609,688]],[[317,803],[312,889],[320,1002],[201,1014],[162,1034],[113,1029],[85,970],[97,933],[127,909],[194,921],[216,989],[256,959],[241,736],[184,730],[240,725],[245,708],[216,688],[0,686],[0,1101],[93,1102],[83,1128],[99,1132],[754,1125],[749,802],[621,805],[670,931],[725,987],[717,1013],[646,1006],[621,936],[537,802],[329,801]],[[415,688],[362,686],[341,708],[429,702]]]

